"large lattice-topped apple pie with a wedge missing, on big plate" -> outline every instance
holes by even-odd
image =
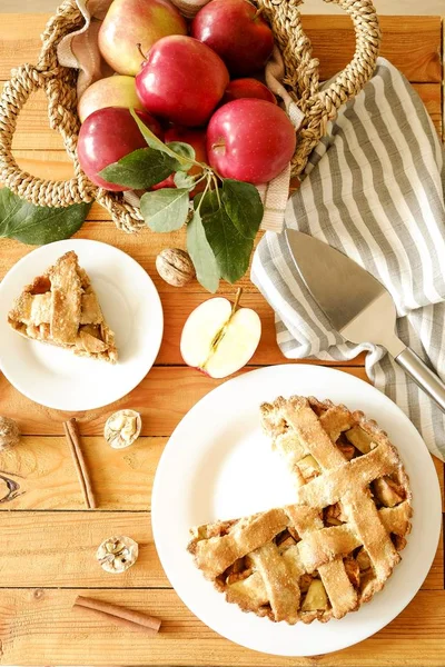
[[[360,411],[295,396],[260,408],[295,504],[191,529],[188,550],[227,601],[290,625],[343,618],[380,590],[411,530],[397,450]]]

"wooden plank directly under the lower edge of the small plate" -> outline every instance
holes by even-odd
[[[235,375],[254,368],[247,367]],[[368,381],[362,367],[339,367],[339,370]],[[111,412],[134,408],[142,416],[144,436],[169,436],[182,416],[220,384],[220,380],[214,380],[194,368],[154,367],[140,385],[119,401],[97,410],[78,412],[80,432],[85,436],[101,435],[105,420]],[[9,385],[4,376],[0,376],[0,415],[17,419],[23,435],[36,436],[62,435],[62,421],[71,416],[34,404]]]

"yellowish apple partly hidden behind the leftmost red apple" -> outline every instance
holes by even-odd
[[[136,93],[135,77],[115,74],[91,83],[79,100],[77,110],[80,122],[93,111],[106,107],[144,109]]]

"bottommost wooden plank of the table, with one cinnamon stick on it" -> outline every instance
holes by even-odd
[[[119,629],[111,620],[72,609],[79,593],[157,615],[162,619],[161,631],[150,637]],[[441,591],[418,593],[392,624],[346,650],[314,658],[280,658],[227,641],[198,620],[174,590],[4,590],[0,598],[0,664],[443,667],[444,597]]]

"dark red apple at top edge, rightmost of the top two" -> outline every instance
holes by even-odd
[[[191,36],[214,49],[238,77],[264,68],[274,49],[269,26],[248,0],[212,0],[192,20]]]

